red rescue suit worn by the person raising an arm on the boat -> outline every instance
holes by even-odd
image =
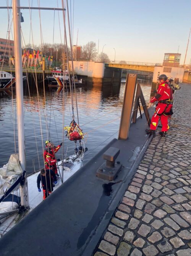
[[[50,148],[50,147],[46,147],[46,149],[44,150],[44,163],[45,163],[45,169],[52,169],[55,174],[58,173],[57,171],[57,160],[55,157],[55,153],[60,149],[60,145],[58,145],[57,147],[54,148]]]

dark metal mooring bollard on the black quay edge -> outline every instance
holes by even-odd
[[[103,159],[106,160],[96,172],[96,176],[105,180],[115,180],[118,172],[120,172],[122,164],[115,160],[120,154],[120,150],[115,147],[110,147],[103,154]]]

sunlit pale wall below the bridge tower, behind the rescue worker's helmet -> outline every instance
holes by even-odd
[[[154,67],[154,73],[153,73],[153,79],[152,79],[153,83],[157,83],[158,72],[160,72],[160,75],[161,74],[165,74],[166,76],[170,76],[173,79],[179,78],[180,83],[182,82],[183,76],[184,76],[184,72],[185,72],[184,68],[172,67],[171,73],[163,72],[163,68],[164,68],[163,66],[162,67],[158,67],[158,66]]]

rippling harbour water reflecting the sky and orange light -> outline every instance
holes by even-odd
[[[150,81],[139,81],[142,91],[149,100]],[[84,141],[88,148],[84,163],[118,137],[121,107],[123,104],[125,84],[119,86],[102,86],[88,84],[76,88],[79,125],[86,133]],[[39,83],[39,101],[35,85],[24,87],[24,128],[26,143],[26,170],[31,173],[34,168],[44,167],[43,147],[47,139],[57,146],[64,141],[64,148],[71,142],[65,137],[63,127],[69,126],[71,118],[70,92],[62,88],[49,87]],[[30,92],[30,96],[29,96]],[[63,97],[64,96],[64,97]],[[78,122],[74,99],[74,116]],[[16,125],[16,96],[11,91],[0,91],[0,129],[1,149],[0,167],[8,162],[12,153],[18,152]],[[49,137],[50,134],[50,137]],[[16,144],[15,144],[16,142]],[[16,145],[16,146],[15,146]],[[63,147],[57,152],[61,158]]]

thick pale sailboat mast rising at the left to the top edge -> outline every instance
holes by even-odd
[[[25,171],[26,160],[25,160],[25,138],[24,138],[23,69],[22,69],[22,48],[21,48],[21,30],[20,30],[21,12],[19,7],[20,7],[20,0],[13,0],[19,162],[22,170]],[[28,207],[26,173],[24,175],[24,184],[20,186],[20,191],[21,191],[21,206],[26,208]]]

